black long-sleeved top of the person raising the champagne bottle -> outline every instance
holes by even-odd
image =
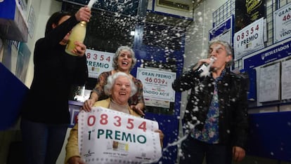
[[[68,55],[59,42],[76,24],[72,16],[35,43],[34,78],[22,118],[39,123],[70,123],[70,89],[72,85],[84,85],[88,69],[85,55]]]

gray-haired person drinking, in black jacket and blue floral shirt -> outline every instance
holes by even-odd
[[[179,92],[191,89],[183,117],[190,135],[181,144],[181,164],[202,164],[204,159],[230,164],[245,157],[248,85],[243,76],[231,71],[232,62],[231,45],[213,40],[208,58],[199,60],[172,84]],[[202,64],[210,64],[209,76],[200,76]]]

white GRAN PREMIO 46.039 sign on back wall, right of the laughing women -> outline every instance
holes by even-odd
[[[176,73],[138,67],[136,78],[143,82],[143,97],[150,100],[175,101],[172,83]]]

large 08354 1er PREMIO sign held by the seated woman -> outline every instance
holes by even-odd
[[[162,156],[156,121],[93,107],[78,116],[79,152],[86,164],[150,163]]]

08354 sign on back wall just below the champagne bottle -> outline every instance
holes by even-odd
[[[90,78],[98,78],[103,71],[111,71],[114,53],[86,49],[87,67]]]

